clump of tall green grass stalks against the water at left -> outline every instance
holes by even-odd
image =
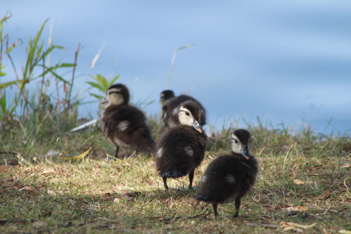
[[[31,116],[40,120],[29,122],[29,125],[37,129],[36,134],[39,133],[39,129],[42,129],[41,126],[44,126],[47,121],[54,121],[58,123],[58,126],[60,126],[59,122],[63,122],[67,126],[70,125],[70,122],[74,123],[77,119],[79,99],[72,96],[72,91],[80,44],[78,44],[78,49],[75,52],[74,63],[61,62],[61,59],[59,59],[54,65],[50,65],[48,62],[50,54],[57,50],[65,51],[65,48],[54,45],[52,38],[49,38],[48,47],[44,46],[41,35],[48,21],[45,20],[34,38],[29,39],[26,46],[26,61],[23,66],[19,65],[20,69],[18,69],[18,65],[12,59],[11,52],[15,47],[18,47],[18,42],[22,40],[18,39],[9,46],[9,36],[4,33],[3,27],[9,18],[11,18],[11,15],[6,14],[0,21],[0,81],[2,81],[0,83],[0,122],[3,123],[1,127],[5,127],[9,131],[11,126],[18,122],[24,122],[27,126],[27,121],[32,118]],[[5,56],[7,56],[13,68],[13,75],[1,71],[5,66]],[[72,72],[70,81],[61,75],[67,69],[71,69]],[[18,70],[21,72],[19,73]],[[5,76],[9,77],[7,78],[9,81],[4,82]],[[14,79],[11,77],[14,77]],[[56,96],[49,93],[52,80],[55,83]],[[33,85],[37,85],[37,93],[32,91]],[[11,93],[14,94],[12,101],[7,98],[8,92],[6,91],[9,88],[12,89]],[[64,98],[61,99],[60,93],[64,94]],[[67,117],[69,117],[69,121],[67,121]],[[66,118],[66,120],[63,118]],[[38,126],[36,126],[37,124]],[[65,127],[65,125],[61,125],[61,127]]]

